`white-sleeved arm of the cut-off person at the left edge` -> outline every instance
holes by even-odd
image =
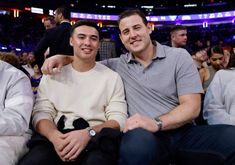
[[[17,76],[14,76],[14,78]],[[4,105],[0,106],[0,136],[23,135],[29,128],[33,106],[31,84],[26,76],[9,80]]]

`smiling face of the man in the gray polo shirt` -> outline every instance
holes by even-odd
[[[120,38],[131,53],[141,53],[151,43],[150,26],[146,26],[139,15],[123,18],[119,24]]]

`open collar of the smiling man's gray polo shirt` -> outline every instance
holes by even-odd
[[[163,59],[166,57],[166,54],[165,54],[165,51],[164,51],[164,48],[163,48],[163,45],[161,45],[160,43],[158,43],[157,41],[152,41],[153,44],[156,46],[156,54],[155,56],[153,57],[153,60],[156,60],[156,59]],[[127,62],[130,63],[130,62],[136,62],[134,56],[132,55],[132,53],[127,53]]]

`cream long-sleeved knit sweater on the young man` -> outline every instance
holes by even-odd
[[[120,76],[96,63],[87,72],[78,72],[69,64],[61,73],[43,76],[33,110],[33,125],[42,119],[58,122],[65,115],[65,128],[73,128],[79,117],[90,126],[115,120],[120,128],[127,118],[124,87]]]

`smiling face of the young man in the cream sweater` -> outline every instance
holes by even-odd
[[[80,60],[94,60],[99,48],[99,33],[91,27],[82,25],[75,28],[70,37],[75,57]]]

